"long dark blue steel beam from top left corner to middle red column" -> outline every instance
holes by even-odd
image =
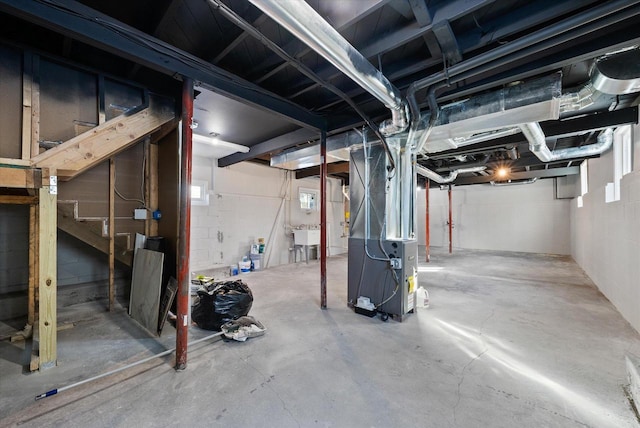
[[[161,73],[188,76],[201,82],[203,87],[277,113],[301,126],[324,128],[323,117],[75,1],[58,0],[54,5],[0,0],[0,11]]]

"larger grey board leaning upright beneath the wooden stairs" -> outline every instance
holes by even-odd
[[[139,248],[133,260],[129,315],[157,334],[164,254]]]

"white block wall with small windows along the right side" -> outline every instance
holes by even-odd
[[[571,204],[571,254],[622,316],[640,331],[640,128],[633,129],[633,172],[622,177],[620,200],[605,203],[613,153],[588,160],[589,192]]]

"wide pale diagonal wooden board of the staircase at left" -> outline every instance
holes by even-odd
[[[158,104],[152,97],[149,107],[130,116],[118,116],[47,150],[32,159],[33,165],[56,169],[58,179],[70,180],[172,120],[173,109]]]

